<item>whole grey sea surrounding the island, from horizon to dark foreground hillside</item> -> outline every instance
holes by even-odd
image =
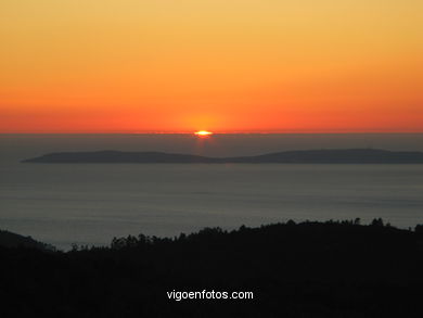
[[[423,151],[423,135],[0,135],[0,229],[69,250],[290,219],[423,224],[423,165],[21,163],[63,151],[231,156],[351,148]]]

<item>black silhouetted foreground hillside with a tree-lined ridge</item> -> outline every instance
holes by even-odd
[[[46,253],[0,246],[0,317],[423,317],[423,230],[275,224]],[[168,297],[253,292],[252,300]]]

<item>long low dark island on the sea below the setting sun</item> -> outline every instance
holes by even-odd
[[[209,157],[165,152],[62,152],[23,161],[43,164],[423,164],[423,152],[377,149],[284,151],[255,156]]]

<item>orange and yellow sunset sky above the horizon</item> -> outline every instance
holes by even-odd
[[[2,0],[0,132],[423,132],[421,0]]]

